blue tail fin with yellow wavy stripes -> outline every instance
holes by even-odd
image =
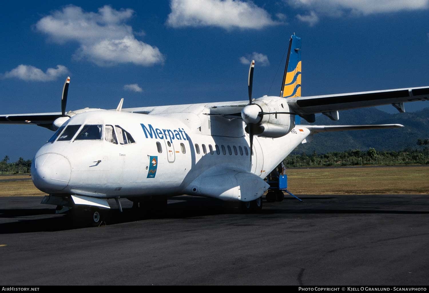
[[[290,36],[280,96],[283,98],[301,96],[301,38],[295,36],[295,33]],[[300,120],[300,117],[296,116],[295,124],[299,124]]]

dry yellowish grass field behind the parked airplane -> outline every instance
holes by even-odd
[[[429,166],[287,169],[294,194],[429,194]],[[29,175],[0,175],[0,196],[41,196]]]

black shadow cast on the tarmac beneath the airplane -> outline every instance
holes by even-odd
[[[317,197],[317,200],[331,199],[332,197]],[[298,203],[294,209],[290,209],[288,202],[295,200],[285,198],[282,203],[267,203],[264,201],[265,209],[258,214],[250,216],[259,217],[261,215],[281,215],[281,214],[429,214],[426,211],[405,211],[405,210],[378,210],[378,209],[312,209],[306,205]],[[305,200],[311,200],[306,197]],[[296,201],[296,200],[295,200]],[[337,206],[337,204],[335,204]],[[238,206],[225,203],[221,200],[205,197],[174,197],[169,200],[167,208],[163,212],[155,214],[141,215],[131,207],[124,207],[123,212],[118,209],[107,211],[106,221],[103,224],[112,225],[132,221],[140,221],[163,218],[198,218],[209,215],[236,214],[241,215]],[[25,217],[25,218],[24,218]],[[0,222],[0,234],[8,233],[30,233],[41,231],[60,231],[85,227],[85,224],[76,222],[68,215],[56,215],[54,209],[0,209],[0,219],[17,218],[16,221],[6,223]]]

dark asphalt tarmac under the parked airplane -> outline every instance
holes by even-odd
[[[164,215],[76,228],[0,197],[0,285],[428,285],[428,195],[317,195],[260,214],[174,197]]]

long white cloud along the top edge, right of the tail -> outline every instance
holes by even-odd
[[[344,14],[369,15],[429,8],[429,0],[286,0],[292,6],[304,7],[329,16]]]

